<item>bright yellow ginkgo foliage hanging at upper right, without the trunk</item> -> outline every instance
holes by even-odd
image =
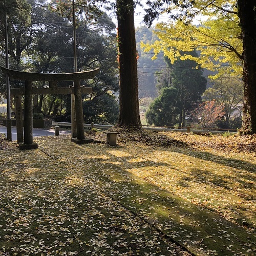
[[[146,52],[153,49],[153,58],[164,52],[172,63],[177,58],[195,60],[202,68],[217,71],[215,77],[223,73],[241,75],[243,45],[239,17],[234,5],[231,5],[233,1],[226,2],[230,5],[202,8],[205,1],[199,1],[197,9],[201,8],[201,14],[207,15],[205,21],[199,25],[181,20],[159,23],[154,31],[159,40],[153,44],[142,42],[141,47]],[[217,5],[218,1],[215,3]],[[192,12],[196,10],[190,10]],[[200,52],[199,57],[189,55],[194,49]],[[185,54],[181,56],[181,52]]]

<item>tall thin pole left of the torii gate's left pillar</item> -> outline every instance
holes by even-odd
[[[5,6],[6,6],[6,1],[5,1]],[[6,68],[9,69],[7,11],[5,12],[5,60],[6,60]],[[8,75],[6,75],[6,95],[7,95],[7,119],[6,119],[7,140],[11,141],[12,140],[11,97],[10,97],[10,80]]]

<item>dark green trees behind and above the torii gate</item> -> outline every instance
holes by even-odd
[[[29,0],[25,2],[29,6],[26,19],[25,17],[15,19],[11,16],[15,13],[8,16],[11,68],[39,73],[73,72],[72,23],[67,17],[61,17],[57,12],[48,9],[46,1]],[[94,17],[96,17],[95,15],[94,13]],[[95,119],[102,117],[102,120],[108,123],[115,123],[113,120],[117,119],[118,112],[116,99],[112,96],[118,91],[115,24],[105,13],[100,13],[97,21],[85,19],[81,13],[77,19],[76,34],[79,71],[100,68],[95,79],[82,81],[82,85],[93,88],[92,94],[82,95],[84,101],[88,101],[88,99],[92,101],[91,105],[86,104],[88,109],[84,120],[92,119],[87,117],[90,116],[90,111],[95,113],[93,104],[99,104],[101,109],[97,109],[98,114],[95,114]],[[3,57],[4,46],[1,47],[0,52]],[[2,61],[4,62],[4,57]],[[1,78],[1,89],[5,92],[4,76],[2,75]],[[19,87],[22,84],[23,82],[11,81],[11,87]],[[45,82],[36,82],[34,85],[48,86]],[[70,85],[69,82],[60,82],[58,86]],[[44,112],[44,114],[70,115],[69,95],[39,95],[38,100],[38,103],[35,102],[36,111]],[[112,109],[107,105],[104,109],[103,104],[100,104],[100,102],[107,101],[113,104]],[[65,117],[63,120],[70,121]]]

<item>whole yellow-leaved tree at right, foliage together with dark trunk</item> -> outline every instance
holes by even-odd
[[[165,1],[151,2],[156,9],[148,10],[148,24],[157,17]],[[202,67],[217,70],[217,75],[234,74],[243,76],[244,108],[241,134],[256,133],[256,8],[254,0],[199,0],[167,1],[167,13],[183,8],[175,17],[175,22],[160,24],[162,31],[154,45],[142,44],[145,50],[154,48],[164,51],[172,61],[180,56],[180,51],[191,51],[197,47],[200,58],[184,56],[201,63]],[[163,11],[163,9],[162,9]],[[207,19],[196,26],[192,23],[198,15]],[[177,19],[178,18],[178,19]],[[210,31],[210,33],[208,33]]]

